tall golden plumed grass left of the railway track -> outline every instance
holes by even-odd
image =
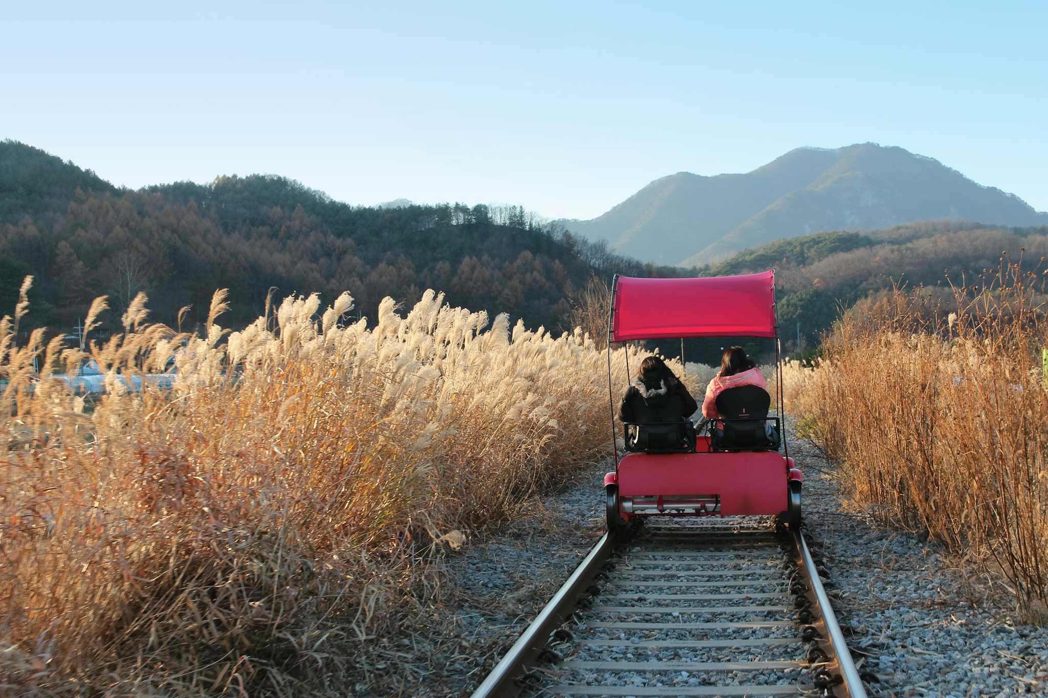
[[[348,294],[232,334],[224,306],[176,335],[137,298],[92,344],[109,392],[89,413],[46,378],[85,357],[16,346],[24,303],[0,323],[0,694],[352,693],[439,599],[432,556],[610,447],[580,331],[485,329],[432,291],[371,329],[342,325]],[[172,357],[172,390],[123,389]]]

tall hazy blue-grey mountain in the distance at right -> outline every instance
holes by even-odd
[[[1048,224],[1048,213],[1012,194],[978,184],[934,158],[876,143],[799,148],[745,174],[680,172],[595,219],[559,223],[620,254],[698,266],[821,230],[949,218]]]

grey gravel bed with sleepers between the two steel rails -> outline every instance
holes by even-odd
[[[780,543],[770,517],[649,519],[613,559],[610,583],[573,635],[553,646],[567,660],[543,670],[547,686],[598,686],[596,695],[599,686],[810,683]],[[658,586],[648,586],[653,579]]]

